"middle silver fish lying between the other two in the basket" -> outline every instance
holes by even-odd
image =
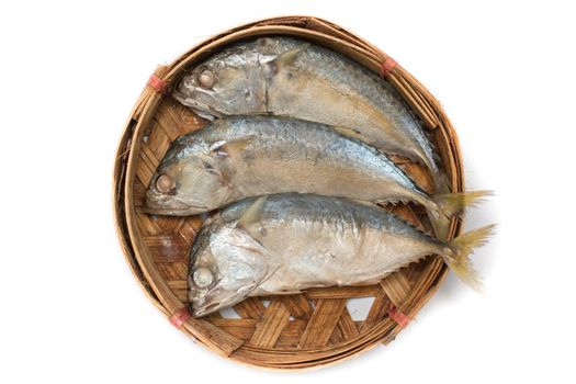
[[[145,211],[195,215],[286,192],[414,201],[434,219],[451,217],[486,194],[429,195],[385,154],[325,124],[251,115],[218,118],[172,143],[147,189]]]

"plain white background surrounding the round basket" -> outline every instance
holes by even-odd
[[[574,382],[575,12],[568,2],[99,1],[0,5],[0,382]],[[123,124],[157,64],[256,19],[331,20],[395,57],[458,128],[484,296],[450,275],[387,348],[240,366],[171,327],[112,217]]]

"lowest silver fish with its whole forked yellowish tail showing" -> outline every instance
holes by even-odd
[[[442,241],[380,206],[346,197],[286,193],[244,200],[200,229],[190,250],[189,309],[202,317],[250,296],[374,284],[430,255],[479,290],[470,255],[493,228]]]

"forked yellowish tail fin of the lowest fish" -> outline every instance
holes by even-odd
[[[448,244],[449,248],[442,255],[448,267],[462,280],[477,292],[482,292],[482,280],[474,270],[470,255],[475,248],[486,244],[494,234],[495,224],[487,225],[465,233]]]

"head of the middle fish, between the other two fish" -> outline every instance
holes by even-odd
[[[146,191],[144,211],[195,215],[229,202],[231,185],[213,145],[196,136],[180,137],[160,162]]]

